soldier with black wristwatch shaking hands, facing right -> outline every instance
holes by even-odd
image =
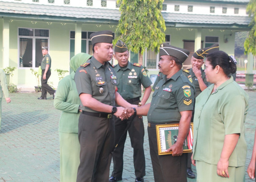
[[[75,83],[81,100],[78,137],[80,164],[78,182],[108,181],[114,149],[114,117],[123,113],[123,107],[132,107],[117,92],[117,76],[108,62],[113,55],[111,31],[90,35],[93,57],[75,73]],[[123,107],[116,107],[115,105]]]

